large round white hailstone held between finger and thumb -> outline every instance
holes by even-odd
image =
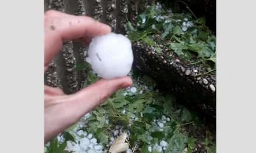
[[[133,64],[131,42],[124,35],[113,32],[94,37],[89,45],[86,61],[99,77],[125,77]]]

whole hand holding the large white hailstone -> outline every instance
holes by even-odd
[[[55,10],[44,14],[44,70],[62,43],[78,40],[88,45],[97,35],[111,32],[108,25],[90,17],[73,16]],[[116,90],[132,85],[131,78],[100,79],[77,93],[66,95],[59,88],[44,88],[44,142],[76,123],[84,114],[104,102]]]

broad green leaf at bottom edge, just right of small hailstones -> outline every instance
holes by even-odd
[[[172,138],[170,139],[165,152],[170,152],[170,153],[182,152],[186,147],[187,140],[188,140],[187,134],[180,133],[179,130],[177,130],[173,134]]]

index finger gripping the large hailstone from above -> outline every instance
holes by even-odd
[[[79,40],[88,44],[91,38],[109,32],[111,32],[111,28],[108,25],[99,23],[91,17],[73,16],[55,10],[45,12],[45,65],[47,65],[59,49],[61,49],[64,41]]]

